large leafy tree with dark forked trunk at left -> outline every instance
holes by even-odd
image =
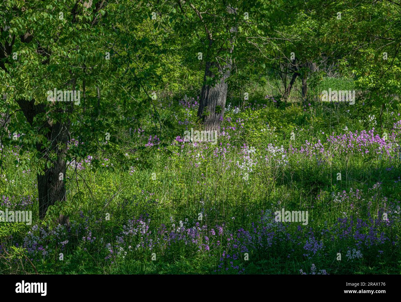
[[[42,219],[67,198],[67,164],[98,150],[124,158],[116,135],[127,125],[121,116],[148,110],[148,89],[158,81],[157,47],[138,35],[151,11],[131,1],[57,0],[2,2],[0,14],[1,102],[16,134],[3,128],[1,143],[34,154],[16,164],[37,170]],[[68,217],[60,213],[58,221]]]

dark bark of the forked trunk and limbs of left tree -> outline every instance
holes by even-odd
[[[83,0],[77,0],[75,6],[71,10],[73,14],[72,22],[75,23],[77,19],[77,15],[81,13],[79,9],[79,3],[82,3]],[[98,1],[93,9],[93,21],[91,22],[92,26],[99,22],[102,17],[99,10],[103,8],[105,5],[104,0]],[[92,1],[85,1],[84,6],[89,8],[92,6]],[[0,32],[6,31],[6,28],[0,27]],[[12,47],[14,45],[16,36],[9,35],[9,40],[0,42],[0,68],[2,68],[5,72],[8,72],[5,66],[5,62],[8,57],[12,53]],[[58,38],[56,38],[57,40]],[[23,35],[20,35],[20,40],[22,43],[30,43],[34,40],[34,33],[31,30],[27,30]],[[50,57],[52,55],[51,51],[39,44],[36,41],[36,52],[43,56],[45,59],[42,61],[42,64],[49,64]],[[69,84],[72,86],[72,90],[75,90],[75,79],[72,79]],[[51,117],[47,120],[42,120],[41,122],[34,122],[34,118],[38,116],[38,114],[45,114],[51,111],[54,114],[64,115],[65,113],[69,114],[73,112],[73,102],[69,102],[69,104],[50,104],[49,102],[35,104],[35,100],[25,100],[20,99],[16,100],[18,105],[20,106],[27,122],[32,126],[38,129],[39,133],[42,133],[44,129],[45,136],[47,140],[50,142],[50,146],[45,149],[45,147],[41,143],[36,144],[37,151],[42,155],[43,159],[47,162],[51,163],[50,167],[45,167],[42,173],[38,173],[37,181],[38,181],[38,200],[39,200],[39,217],[43,219],[46,215],[47,209],[49,206],[55,204],[57,201],[65,201],[66,200],[66,188],[64,184],[64,178],[66,175],[66,161],[65,156],[67,153],[67,143],[69,140],[69,129],[71,125],[71,120],[69,118],[55,118],[55,116],[50,115]],[[56,102],[57,103],[57,102]],[[49,106],[50,105],[50,106]],[[7,118],[5,117],[7,120]],[[49,154],[56,154],[56,159],[50,158]],[[63,179],[60,180],[60,173],[63,173]],[[57,222],[60,224],[69,224],[68,217],[61,214],[59,218],[57,218]]]

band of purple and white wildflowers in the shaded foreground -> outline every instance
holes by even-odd
[[[359,190],[350,190],[348,194],[344,192],[343,195],[347,196],[344,202],[354,202],[354,198],[360,199],[361,194]],[[376,251],[381,255],[385,250],[384,245],[399,245],[399,236],[393,235],[392,241],[389,237],[391,229],[401,222],[399,214],[397,216],[399,206],[393,207],[393,210],[387,208],[387,212],[392,215],[391,219],[383,220],[381,215],[384,209],[381,209],[375,217],[368,212],[367,219],[352,216],[338,218],[332,226],[325,222],[325,227],[318,232],[304,225],[276,222],[270,210],[262,211],[257,221],[235,232],[230,232],[226,224],[209,227],[199,221],[191,224],[188,218],[178,223],[170,218],[170,227],[166,224],[151,227],[150,218],[141,216],[129,220],[123,226],[123,231],[116,236],[115,243],[107,245],[109,254],[106,259],[126,257],[135,251],[165,251],[174,246],[185,247],[186,251],[219,257],[216,272],[243,273],[246,264],[244,253],[252,253],[253,257],[257,257],[255,255],[258,253],[274,254],[281,250],[286,252],[288,258],[312,260],[328,255],[327,244],[349,251],[347,257],[350,259],[361,259],[364,250]],[[350,249],[350,246],[355,247],[355,250]],[[311,274],[315,273],[327,272],[317,271],[312,265]]]

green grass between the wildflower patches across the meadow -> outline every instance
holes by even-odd
[[[134,166],[135,171],[132,173],[129,168],[117,167],[116,163],[113,169],[102,171],[91,171],[90,166],[86,165],[83,171],[79,171],[77,178],[74,170],[69,170],[66,180],[67,202],[52,206],[44,222],[38,220],[37,202],[31,209],[34,212],[32,225],[45,227],[46,224],[51,229],[55,227],[54,218],[58,213],[67,213],[72,224],[71,231],[66,231],[60,237],[54,235],[46,239],[45,249],[49,251],[46,257],[40,253],[28,254],[22,249],[15,251],[11,258],[0,258],[0,271],[32,272],[33,267],[24,260],[24,255],[27,255],[40,273],[236,273],[237,270],[231,268],[228,271],[215,271],[221,263],[220,257],[227,249],[229,234],[236,238],[238,229],[252,231],[251,224],[261,217],[262,210],[274,212],[286,208],[309,211],[309,223],[302,231],[299,243],[286,239],[285,234],[292,234],[296,239],[300,224],[286,224],[286,232],[277,231],[271,247],[251,247],[248,261],[243,260],[243,253],[240,253],[241,259],[236,260],[235,264],[243,268],[244,273],[299,274],[300,269],[309,272],[312,264],[328,273],[401,273],[397,238],[401,235],[399,214],[397,220],[397,215],[392,212],[395,222],[391,228],[374,225],[374,228],[383,228],[386,236],[396,243],[391,244],[389,240],[369,248],[361,247],[363,257],[353,261],[345,257],[348,249],[358,249],[352,240],[335,238],[332,241],[330,236],[321,235],[338,218],[352,216],[354,220],[368,219],[368,213],[380,215],[396,207],[401,197],[401,184],[395,183],[400,176],[399,157],[389,159],[384,154],[373,153],[339,154],[333,150],[333,157],[328,159],[289,152],[286,153],[286,165],[277,166],[274,161],[264,163],[265,156],[271,154],[265,150],[269,143],[283,146],[288,151],[290,145],[299,149],[306,140],[316,143],[320,139],[326,148],[330,148],[325,143],[326,138],[333,132],[335,135],[347,132],[342,130],[345,125],[349,131],[368,130],[375,126],[369,124],[368,114],[360,112],[359,104],[354,107],[312,104],[306,108],[292,104],[286,109],[267,104],[265,108],[257,108],[242,110],[238,114],[226,113],[225,117],[231,117],[232,121],[225,121],[223,126],[236,127],[237,130],[226,129],[231,138],[219,137],[222,146],[209,143],[208,149],[199,149],[187,144],[181,150],[178,145],[170,145],[174,137],[183,135],[184,128],[177,126],[163,137],[168,142],[167,147],[160,146],[160,150],[152,147],[144,153],[128,155],[138,157],[138,166]],[[177,110],[180,110],[178,119],[183,120],[187,112],[179,108]],[[384,114],[385,124],[399,120],[397,111],[394,111],[392,115],[390,112]],[[174,122],[173,116],[162,114]],[[192,112],[190,120],[193,123],[195,116]],[[239,118],[243,122],[236,122]],[[196,128],[196,124],[193,125],[188,127]],[[149,123],[144,129],[151,133],[152,124]],[[295,141],[290,140],[292,131],[295,133]],[[142,138],[142,141],[132,138],[132,144],[146,142],[147,137]],[[243,160],[243,144],[255,148],[251,158],[259,162],[253,171],[248,171],[248,180],[244,180],[244,171],[236,164],[237,161],[241,164]],[[215,156],[215,147],[226,147],[229,150],[225,159],[221,154]],[[109,158],[104,154],[93,156]],[[33,195],[36,198],[34,171],[22,173],[12,164],[14,159],[13,155],[8,154],[4,163],[3,173],[7,181],[3,180],[0,186],[2,194]],[[146,168],[141,167],[140,163],[147,163]],[[249,162],[246,163],[249,165]],[[390,167],[393,167],[391,171],[387,171],[386,168]],[[336,180],[338,172],[342,174],[341,181]],[[152,173],[156,173],[155,180],[152,179]],[[377,182],[381,182],[381,188],[369,190]],[[350,198],[343,202],[333,200],[332,193],[349,193],[351,188],[354,192],[360,190],[363,199]],[[107,213],[111,215],[110,220],[105,219]],[[199,213],[203,215],[202,220],[198,220]],[[124,245],[124,251],[127,252],[124,257],[118,255],[105,259],[109,255],[107,243],[116,245],[116,236],[120,236],[123,225],[129,219],[144,214],[151,218],[148,238],[154,240],[161,224],[171,230],[172,223],[178,226],[179,221],[185,219],[189,226],[196,222],[200,222],[201,226],[207,225],[208,232],[215,225],[225,223],[227,235],[221,237],[220,246],[209,251],[199,250],[198,246],[205,243],[205,238],[201,237],[196,244],[177,242],[158,246],[152,251],[143,248],[130,251]],[[8,224],[0,225],[2,245],[11,247],[18,243],[21,247],[30,227],[22,225],[20,229],[10,230]],[[317,241],[322,240],[324,248],[312,256],[305,256],[303,247],[310,230],[313,230]],[[89,231],[92,238],[96,237],[93,243],[82,239],[88,236]],[[133,242],[139,242],[138,238],[133,236]],[[69,242],[63,250],[59,242],[66,239]],[[217,242],[217,239],[213,240]],[[379,252],[382,250],[383,253]],[[342,254],[341,261],[336,260],[338,252]],[[59,253],[64,254],[63,261],[59,260]],[[151,260],[152,253],[156,253],[155,261]],[[223,267],[225,265],[227,263]]]

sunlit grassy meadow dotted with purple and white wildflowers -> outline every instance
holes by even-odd
[[[69,162],[67,201],[43,221],[36,173],[18,167],[29,154],[3,149],[0,208],[34,216],[0,225],[1,272],[401,272],[400,111],[383,113],[385,135],[361,102],[284,108],[267,95],[228,105],[213,145],[183,140],[199,129],[197,99],[168,103],[168,132],[144,118],[121,134],[135,165],[104,153]],[[308,211],[308,224],[277,222],[283,208]],[[55,224],[59,212],[69,225]]]

